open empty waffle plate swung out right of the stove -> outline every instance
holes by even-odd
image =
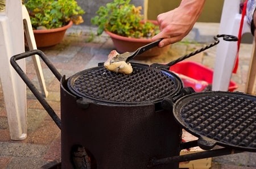
[[[218,144],[242,151],[256,151],[256,96],[240,92],[201,92],[174,104],[176,120],[199,137],[203,149]]]

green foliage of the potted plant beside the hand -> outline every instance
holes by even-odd
[[[122,36],[142,37],[154,36],[158,26],[142,24],[141,7],[130,4],[130,0],[113,0],[105,6],[100,6],[91,23],[98,26],[98,33],[104,29]]]

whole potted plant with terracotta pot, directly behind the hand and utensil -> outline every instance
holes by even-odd
[[[134,6],[130,0],[113,0],[100,6],[91,23],[98,26],[98,35],[108,33],[119,53],[133,52],[151,43],[151,37],[159,32],[156,20],[144,20],[141,10],[141,6]],[[155,47],[139,56],[158,56],[168,48]]]

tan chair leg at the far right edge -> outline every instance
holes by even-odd
[[[250,95],[254,95],[256,84],[256,51],[255,43],[253,45],[253,53],[251,55],[250,66],[247,75],[246,90],[245,92]]]

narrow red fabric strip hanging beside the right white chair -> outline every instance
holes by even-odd
[[[239,50],[240,50],[240,44],[241,44],[241,38],[242,38],[243,19],[245,18],[245,14],[246,14],[246,5],[247,5],[247,0],[243,3],[242,18],[240,22],[240,28],[238,32],[238,41],[237,41],[237,58],[236,58],[236,64],[234,65],[233,73],[237,73],[237,68],[239,64]]]

